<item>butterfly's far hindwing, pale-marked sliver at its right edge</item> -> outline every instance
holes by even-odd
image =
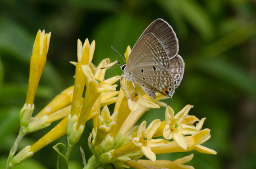
[[[167,70],[172,75],[175,87],[178,87],[181,80],[183,79],[184,66],[185,63],[180,55],[177,55],[170,59],[170,68]]]

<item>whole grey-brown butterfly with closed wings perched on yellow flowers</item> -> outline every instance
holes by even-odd
[[[153,99],[155,92],[172,97],[184,73],[185,64],[178,51],[178,39],[172,27],[157,19],[138,38],[127,64],[119,63],[125,74],[122,76],[125,81],[132,81],[133,87],[134,83],[140,84]]]

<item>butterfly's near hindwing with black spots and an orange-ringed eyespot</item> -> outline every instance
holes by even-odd
[[[145,93],[154,99],[153,91],[168,97],[174,94],[175,84],[172,75],[163,66],[139,64],[131,73],[135,79],[134,82],[140,84]]]

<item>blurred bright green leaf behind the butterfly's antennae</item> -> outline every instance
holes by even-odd
[[[123,59],[112,50],[111,46],[124,56],[127,46],[133,47],[150,21],[146,21],[146,24],[142,26],[141,21],[125,12],[119,14],[118,17],[114,16],[103,20],[93,32],[96,48],[98,49],[94,53],[93,63],[97,65],[106,57],[110,57],[111,61],[119,60],[124,63]],[[115,74],[122,74],[118,66],[114,66],[112,69]],[[112,77],[112,71],[109,71],[109,73],[111,76],[107,73],[105,78]]]

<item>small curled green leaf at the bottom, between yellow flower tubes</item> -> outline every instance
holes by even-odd
[[[68,169],[68,160],[65,157],[65,155],[63,155],[66,152],[66,145],[58,143],[55,146],[53,146],[53,148],[58,153],[57,168]]]

